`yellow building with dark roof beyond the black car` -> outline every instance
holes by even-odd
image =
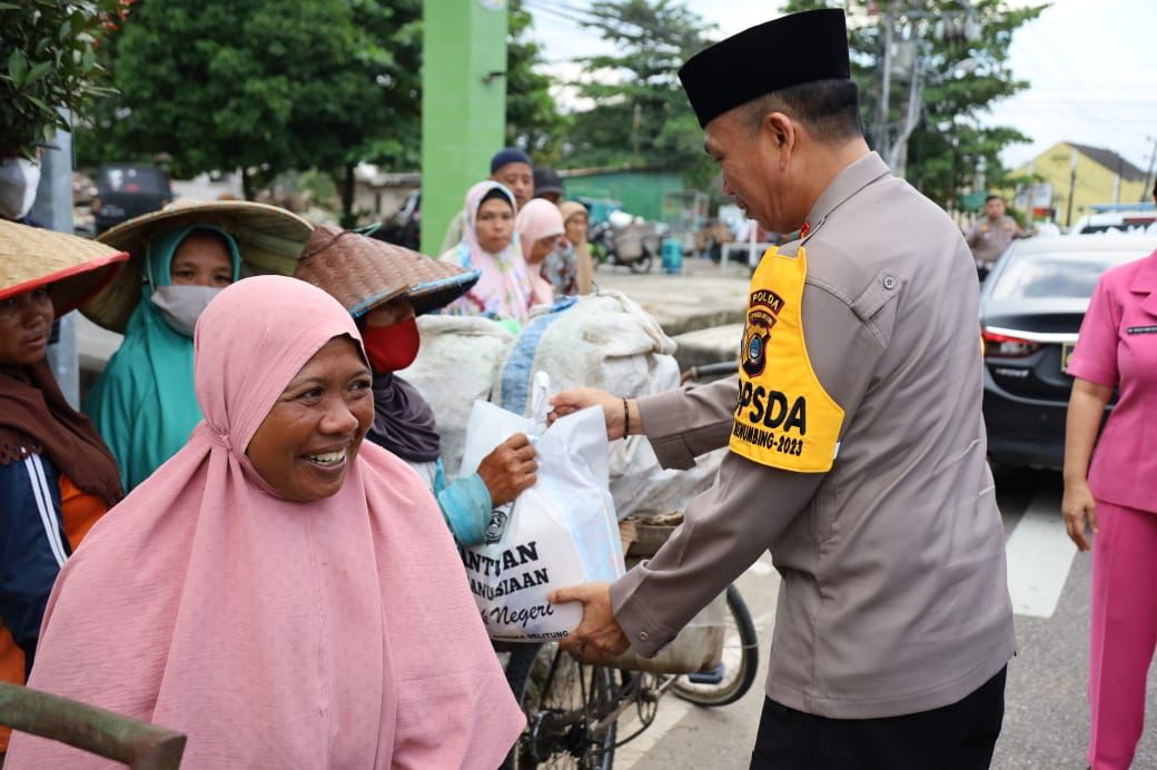
[[[1111,149],[1062,141],[1014,171],[1034,179],[1016,191],[1014,205],[1036,219],[1070,226],[1090,213],[1092,204],[1130,204],[1152,200],[1148,175]],[[1071,196],[1071,206],[1069,197]]]

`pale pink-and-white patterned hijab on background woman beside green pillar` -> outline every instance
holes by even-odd
[[[500,182],[486,179],[470,188],[466,192],[464,210],[465,226],[462,230],[462,242],[443,254],[440,259],[466,270],[478,270],[481,278],[462,299],[448,305],[442,313],[449,315],[485,315],[495,320],[513,318],[523,323],[530,316],[530,307],[536,298],[531,285],[526,262],[518,249],[518,234],[510,237],[507,248],[498,254],[491,254],[478,243],[478,210],[482,198],[491,190],[500,190],[510,203],[510,210],[517,211],[514,195]]]

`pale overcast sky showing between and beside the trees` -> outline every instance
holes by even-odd
[[[781,15],[774,0],[686,0],[721,36]],[[567,8],[591,0],[526,0],[535,35],[553,71],[573,78],[566,61],[605,51],[595,32],[567,21]],[[1017,2],[1016,5],[1024,5]],[[1010,125],[1032,139],[1009,147],[1017,166],[1057,141],[1121,153],[1142,170],[1157,140],[1157,76],[1152,74],[1157,0],[1054,0],[1014,36],[1011,67],[1031,87],[995,104],[986,122]]]

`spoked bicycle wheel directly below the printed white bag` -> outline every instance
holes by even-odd
[[[511,653],[507,681],[526,728],[503,770],[611,770],[618,724],[599,726],[616,705],[611,669],[584,666],[557,644],[545,644],[533,654]]]

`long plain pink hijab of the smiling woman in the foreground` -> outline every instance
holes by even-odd
[[[349,314],[293,278],[213,300],[205,420],[60,572],[30,687],[187,733],[190,768],[502,762],[524,720],[419,477],[364,441],[337,494],[290,503],[244,454],[340,335]],[[112,765],[17,734],[6,770]]]

